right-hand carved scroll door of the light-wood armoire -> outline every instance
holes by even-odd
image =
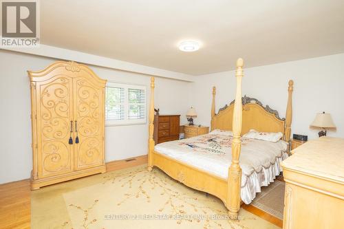
[[[79,143],[75,144],[74,168],[104,164],[104,85],[92,78],[74,79],[74,120]]]

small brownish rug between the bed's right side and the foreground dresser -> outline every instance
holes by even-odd
[[[251,204],[270,215],[283,219],[285,188],[285,182],[275,179],[269,186],[261,188],[261,193],[257,193]]]

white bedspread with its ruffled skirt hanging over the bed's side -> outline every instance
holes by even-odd
[[[155,151],[196,168],[228,178],[233,137],[206,134],[155,145]],[[268,186],[282,171],[280,163],[288,157],[288,144],[241,138],[241,199],[250,204],[261,186]]]

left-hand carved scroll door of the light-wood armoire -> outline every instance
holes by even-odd
[[[36,82],[36,125],[39,178],[73,171],[73,145],[69,144],[73,120],[73,78],[52,76]]]

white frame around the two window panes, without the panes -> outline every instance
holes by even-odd
[[[147,124],[147,86],[146,85],[136,85],[136,84],[130,84],[130,83],[118,83],[118,82],[111,82],[108,81],[105,85],[105,91],[106,87],[120,87],[124,89],[124,119],[123,120],[107,120],[106,119],[106,109],[104,113],[105,117],[105,126],[111,127],[111,126],[125,126],[125,125],[136,125],[136,124]],[[129,119],[129,89],[142,89],[144,90],[144,118],[142,119]],[[106,93],[105,93],[105,104],[107,102]]]

